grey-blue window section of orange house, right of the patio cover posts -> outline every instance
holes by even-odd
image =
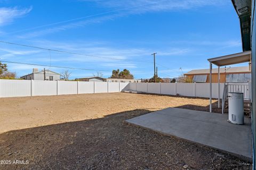
[[[227,83],[246,83],[251,81],[251,74],[227,74],[226,82]]]

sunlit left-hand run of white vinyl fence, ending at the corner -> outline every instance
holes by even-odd
[[[94,94],[129,90],[126,82],[0,80],[0,97]]]

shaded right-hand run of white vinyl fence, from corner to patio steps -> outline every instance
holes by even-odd
[[[220,83],[220,97],[224,83]],[[129,90],[149,94],[210,97],[210,83],[130,83]],[[212,83],[212,97],[218,98],[218,83]]]

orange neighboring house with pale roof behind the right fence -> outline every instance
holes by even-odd
[[[193,80],[193,82],[210,82],[210,70],[191,70],[184,74],[187,78]],[[220,82],[249,82],[251,81],[251,71],[249,66],[243,67],[225,67],[220,68]],[[212,82],[218,83],[218,69],[212,69]]]

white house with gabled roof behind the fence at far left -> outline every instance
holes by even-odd
[[[38,71],[38,69],[34,68],[33,73],[23,75],[20,78],[24,80],[44,80],[44,71]],[[60,80],[60,74],[50,70],[45,70],[45,80]]]

